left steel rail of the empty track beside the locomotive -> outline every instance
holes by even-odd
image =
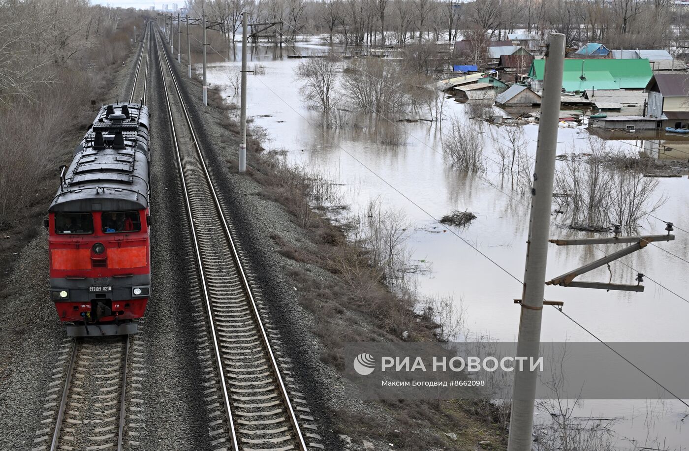
[[[208,290],[206,286],[206,281],[205,281],[205,273],[203,271],[203,261],[201,260],[201,253],[200,253],[200,248],[198,246],[198,240],[196,239],[196,227],[194,226],[194,218],[192,217],[192,205],[189,203],[189,196],[187,196],[187,182],[184,178],[184,172],[182,169],[182,160],[180,156],[180,151],[179,151],[179,145],[177,142],[177,134],[175,131],[175,126],[174,126],[174,114],[172,114],[172,107],[170,106],[170,100],[169,100],[169,92],[167,90],[167,83],[165,83],[165,75],[163,74],[163,61],[161,59],[161,52],[160,48],[158,48],[158,42],[160,41],[160,36],[158,36],[158,33],[156,33],[156,54],[158,55],[158,64],[160,65],[161,68],[161,78],[163,78],[163,93],[165,94],[165,105],[167,105],[167,114],[169,116],[170,120],[170,130],[172,132],[172,142],[174,143],[175,147],[175,156],[177,158],[177,167],[179,169],[179,176],[180,180],[182,182],[182,191],[184,195],[184,201],[185,205],[187,207],[187,219],[189,220],[189,228],[192,230],[192,242],[194,244],[194,251],[196,251],[196,264],[198,265],[198,273],[200,277],[200,286],[201,289],[203,290],[203,298],[206,301],[206,308],[209,314],[209,317],[211,316],[212,313],[212,308],[210,305],[210,296],[208,295]],[[238,443],[237,443],[237,436],[236,432],[234,430],[234,420],[232,419],[232,408],[230,407],[229,403],[229,392],[227,391],[227,384],[225,384],[225,373],[223,371],[223,360],[220,358],[220,348],[218,347],[218,342],[215,339],[216,337],[216,331],[215,331],[215,325],[211,321],[210,322],[210,328],[211,328],[211,335],[214,338],[213,339],[213,348],[215,351],[216,355],[216,364],[218,366],[218,377],[220,378],[220,388],[222,389],[223,392],[223,403],[225,405],[225,412],[227,412],[227,428],[229,429],[229,433],[232,434],[232,445],[233,445],[233,450],[238,451]]]

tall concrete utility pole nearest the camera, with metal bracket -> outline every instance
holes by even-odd
[[[541,341],[563,64],[564,34],[553,33],[548,37],[543,77],[543,100],[533,171],[531,218],[528,224],[522,314],[517,343],[517,356],[533,359],[538,358]],[[535,371],[515,372],[508,451],[531,451],[537,377]]]

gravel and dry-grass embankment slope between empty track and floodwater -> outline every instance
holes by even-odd
[[[257,284],[271,300],[271,322],[291,360],[299,362],[294,373],[313,416],[322,420],[319,429],[342,436],[338,445],[347,449],[504,448],[504,412],[488,400],[358,399],[342,377],[349,364],[346,344],[436,340],[438,318],[419,314],[423,308],[413,292],[394,289],[385,262],[347,233],[351,224],[329,219],[321,203],[329,190],[325,180],[265,151],[260,129],[252,134],[250,128],[247,174],[239,174],[236,106],[210,90],[205,107],[199,81],[183,85],[204,130],[212,176],[233,212]]]

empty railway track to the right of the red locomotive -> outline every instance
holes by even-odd
[[[161,36],[155,34],[156,43],[160,43],[156,52],[163,94],[212,342],[210,354],[218,374],[218,401],[227,413],[226,423],[216,427],[223,428],[231,442],[226,449],[233,451],[322,449],[322,445],[313,443],[307,448],[302,436],[298,413],[280,375],[169,56],[163,50]],[[223,430],[213,431],[214,439]]]

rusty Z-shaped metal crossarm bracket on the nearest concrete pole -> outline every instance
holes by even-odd
[[[579,266],[579,268],[568,271],[562,275],[559,275],[552,280],[546,282],[546,285],[559,285],[559,286],[575,286],[578,288],[593,288],[593,289],[606,289],[606,290],[622,290],[622,291],[644,291],[644,286],[641,285],[627,285],[627,284],[606,284],[600,282],[574,282],[574,278],[578,275],[586,274],[589,271],[593,271],[604,264],[614,262],[618,258],[622,258],[625,255],[634,253],[644,249],[648,246],[648,243],[654,241],[672,241],[675,240],[675,235],[644,235],[644,236],[634,236],[634,237],[611,237],[611,238],[582,238],[577,240],[548,240],[551,243],[557,244],[558,246],[570,246],[570,245],[581,245],[581,244],[615,244],[615,243],[635,243],[619,251],[615,251],[610,255],[606,255],[603,258],[599,258],[593,262],[585,264],[584,266]]]

